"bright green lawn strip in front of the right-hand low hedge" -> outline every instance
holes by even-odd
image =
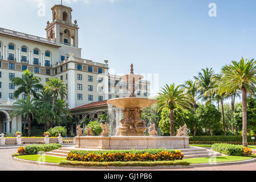
[[[184,159],[185,161],[191,163],[191,164],[197,164],[197,163],[221,163],[221,162],[234,162],[234,161],[240,161],[240,160],[248,160],[253,159],[249,157],[242,157],[242,156],[217,156],[216,160],[214,158],[192,158],[192,159]]]

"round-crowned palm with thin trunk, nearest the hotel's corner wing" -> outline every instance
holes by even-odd
[[[54,110],[56,97],[58,97],[59,95],[60,97],[67,96],[67,88],[66,86],[64,86],[63,80],[60,80],[59,78],[50,78],[44,86],[44,91],[53,95],[52,110]]]

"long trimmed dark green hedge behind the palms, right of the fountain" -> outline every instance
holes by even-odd
[[[190,141],[214,141],[214,142],[242,142],[242,136],[190,136]],[[254,140],[255,141],[255,140]],[[251,136],[247,136],[247,142],[253,142]]]

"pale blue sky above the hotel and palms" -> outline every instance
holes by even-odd
[[[50,8],[60,0],[0,2],[0,27],[45,37]],[[46,16],[37,15],[40,2]],[[209,3],[216,3],[216,17],[208,15]],[[109,60],[115,73],[128,73],[133,63],[136,73],[159,74],[157,89],[183,84],[201,68],[219,72],[231,60],[256,58],[254,0],[63,0],[63,5],[71,6],[78,20],[84,59]]]

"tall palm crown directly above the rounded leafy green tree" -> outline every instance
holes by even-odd
[[[205,96],[205,92],[209,89],[213,88],[214,82],[212,82],[213,78],[215,77],[213,68],[206,68],[201,69],[202,72],[198,73],[198,76],[194,77],[198,84],[198,91],[200,93],[199,98],[202,99],[202,101],[208,101],[209,96]]]

